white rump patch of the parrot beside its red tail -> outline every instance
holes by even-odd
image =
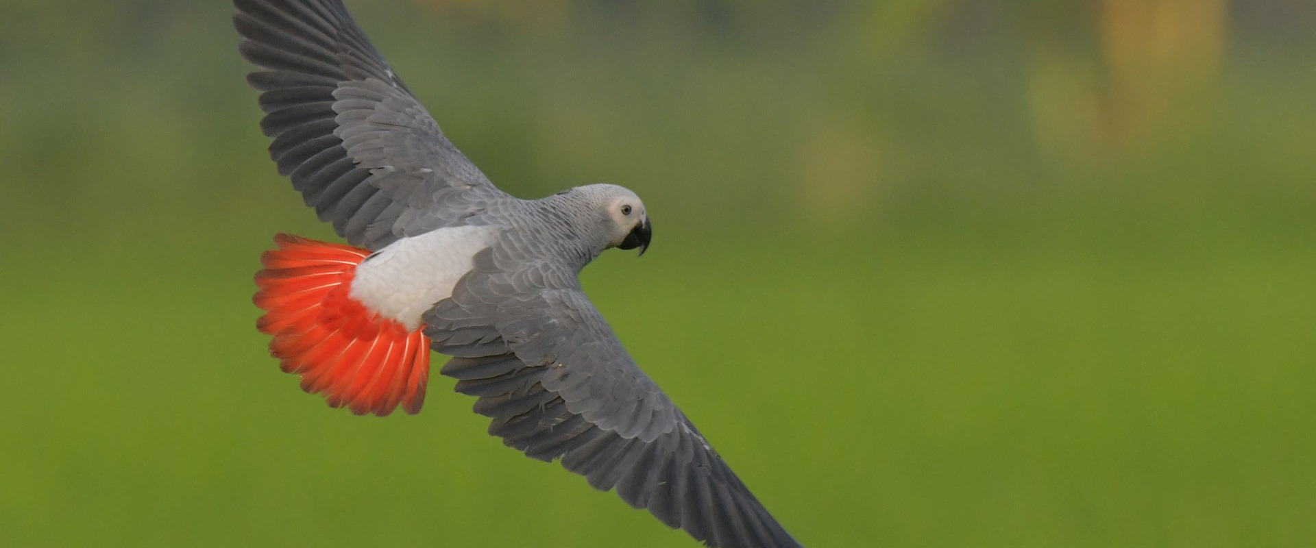
[[[475,254],[496,237],[494,227],[455,226],[399,239],[357,267],[349,294],[412,331],[421,314],[453,294]]]

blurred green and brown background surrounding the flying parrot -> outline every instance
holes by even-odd
[[[811,547],[1316,545],[1316,5],[349,1]],[[254,329],[279,177],[224,1],[0,1],[0,544],[687,547]],[[436,368],[438,365],[436,360]]]

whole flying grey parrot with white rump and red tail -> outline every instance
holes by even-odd
[[[307,205],[351,246],[280,234],[255,302],[270,351],[329,405],[420,411],[429,350],[490,434],[561,459],[712,547],[799,547],[630,359],[576,275],[649,246],[630,191],[519,200],[440,131],[340,0],[234,0],[263,68],[261,127]]]

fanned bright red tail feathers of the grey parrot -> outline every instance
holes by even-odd
[[[257,329],[274,335],[270,355],[284,372],[301,375],[301,389],[322,392],[330,406],[358,415],[387,415],[403,403],[420,411],[429,378],[429,338],[380,318],[349,296],[351,277],[370,251],[288,234],[261,256],[265,309]]]

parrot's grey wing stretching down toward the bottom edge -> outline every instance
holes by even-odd
[[[442,373],[476,396],[490,434],[534,459],[562,459],[600,490],[711,547],[799,547],[636,365],[575,273],[499,271],[500,247],[424,321]]]

